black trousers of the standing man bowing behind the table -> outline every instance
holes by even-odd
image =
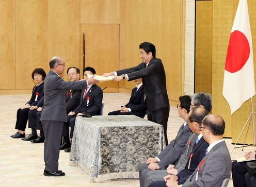
[[[158,110],[149,110],[148,108],[148,120],[157,124],[163,125],[165,134],[165,144],[168,145],[167,138],[167,123],[169,117],[170,107],[164,107]]]

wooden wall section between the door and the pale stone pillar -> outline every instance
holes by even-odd
[[[141,8],[145,7],[147,8]],[[144,41],[156,47],[167,75],[169,99],[178,101],[182,77],[183,1],[120,1],[120,69],[137,65],[139,44]],[[120,88],[134,87],[121,81]]]

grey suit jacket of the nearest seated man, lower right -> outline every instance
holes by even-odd
[[[202,161],[204,162],[199,169],[198,179],[196,180],[196,175],[199,166],[182,187],[221,186],[224,179],[230,178],[232,163],[225,141],[216,144]]]

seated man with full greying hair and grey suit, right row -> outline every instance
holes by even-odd
[[[212,109],[212,96],[207,93],[195,93],[192,96],[190,109],[194,107],[204,107],[208,112]],[[167,169],[157,169],[148,173],[147,183],[152,183],[154,181],[161,181],[167,174],[177,175],[182,169],[185,168],[188,158],[190,156],[191,149],[195,145],[195,141],[198,137],[198,134],[191,133],[188,138],[187,144],[179,158],[179,161],[174,164],[169,164]],[[167,165],[168,165],[167,164]]]

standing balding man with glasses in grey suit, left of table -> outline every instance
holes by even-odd
[[[65,90],[83,89],[88,84],[99,82],[93,77],[88,80],[66,82],[60,75],[65,70],[65,63],[60,57],[50,61],[50,72],[44,80],[44,105],[40,121],[45,135],[44,141],[44,176],[65,176],[58,170],[59,145],[63,123],[67,122]]]

